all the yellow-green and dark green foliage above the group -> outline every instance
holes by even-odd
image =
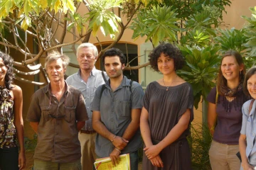
[[[6,52],[10,49],[21,52],[24,56],[22,62],[16,61],[14,65],[31,70],[20,72],[15,69],[16,79],[25,81],[18,74],[42,72],[48,81],[43,66],[36,64],[47,52],[61,51],[67,45],[76,52],[76,42],[88,42],[91,34],[97,37],[101,32],[112,38],[112,43],[101,49],[101,55],[117,44],[130,26],[134,30],[134,39],[146,37],[146,41],[150,40],[154,46],[166,41],[180,45],[187,64],[179,74],[192,84],[197,107],[199,96],[205,99],[215,85],[212,81],[219,64],[218,55],[227,49],[235,49],[245,52],[246,64],[254,61],[250,56],[256,52],[255,8],[251,8],[251,18],[244,17],[249,22],[245,29],[216,30],[221,24],[225,6],[230,6],[230,3],[229,0],[3,0],[0,2],[0,45]],[[78,8],[87,8],[87,12],[78,13]],[[11,36],[6,38],[3,30]],[[60,35],[56,36],[56,33]],[[64,42],[70,35],[73,41]],[[31,52],[28,39],[33,39],[38,45],[38,52]]]

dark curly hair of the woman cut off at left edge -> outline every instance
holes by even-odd
[[[4,85],[6,86],[6,89],[13,89],[14,86],[14,68],[13,68],[13,62],[14,59],[9,56],[4,54],[4,52],[0,51],[0,57],[4,62],[4,65],[6,66],[6,76],[4,77]]]

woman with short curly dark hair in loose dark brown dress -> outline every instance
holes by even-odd
[[[163,78],[146,87],[140,128],[144,140],[143,169],[191,169],[186,136],[193,120],[191,85],[178,77],[184,64],[181,51],[169,43],[149,55],[151,68]]]

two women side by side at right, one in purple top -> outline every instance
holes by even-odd
[[[207,97],[208,128],[213,135],[209,158],[213,170],[255,169],[255,94],[256,67],[246,72],[238,52],[225,52],[217,84]]]

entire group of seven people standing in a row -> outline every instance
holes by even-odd
[[[163,77],[145,93],[123,75],[126,57],[121,50],[103,54],[105,72],[95,68],[95,45],[82,43],[76,55],[80,69],[65,80],[69,57],[50,53],[45,63],[50,83],[31,98],[26,120],[38,135],[34,170],[92,170],[95,159],[102,157],[110,157],[115,166],[120,154],[129,154],[131,170],[137,170],[142,140],[142,169],[191,169],[186,137],[193,120],[193,89],[176,74],[185,64],[177,47],[163,43],[150,53],[151,68]],[[14,85],[12,62],[0,52],[1,170],[26,166],[22,91]],[[256,98],[256,67],[245,74],[242,57],[230,50],[207,98],[213,170],[256,165],[256,102],[250,98]]]

